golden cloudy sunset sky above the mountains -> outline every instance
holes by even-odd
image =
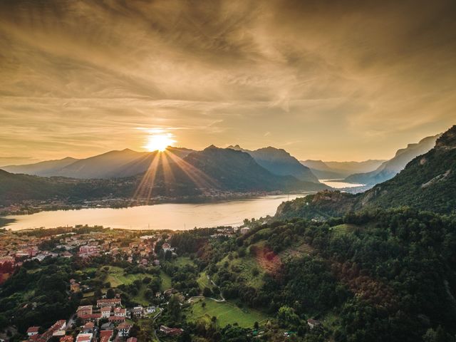
[[[0,2],[0,165],[180,147],[388,159],[456,123],[456,1]]]

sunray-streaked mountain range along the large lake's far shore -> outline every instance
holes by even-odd
[[[217,195],[217,191],[329,189],[318,181],[307,182],[293,175],[276,175],[259,165],[249,153],[215,146],[202,151],[172,147],[162,153],[111,151],[83,160],[65,158],[5,169],[52,177],[2,171],[0,204],[24,199],[72,201],[105,196],[182,197]]]

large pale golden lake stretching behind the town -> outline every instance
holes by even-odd
[[[239,226],[244,219],[274,215],[281,202],[303,195],[276,195],[253,199],[200,204],[155,204],[123,209],[93,208],[56,210],[31,215],[11,215],[16,222],[7,229],[53,228],[76,224],[123,229],[192,229],[194,227]]]

